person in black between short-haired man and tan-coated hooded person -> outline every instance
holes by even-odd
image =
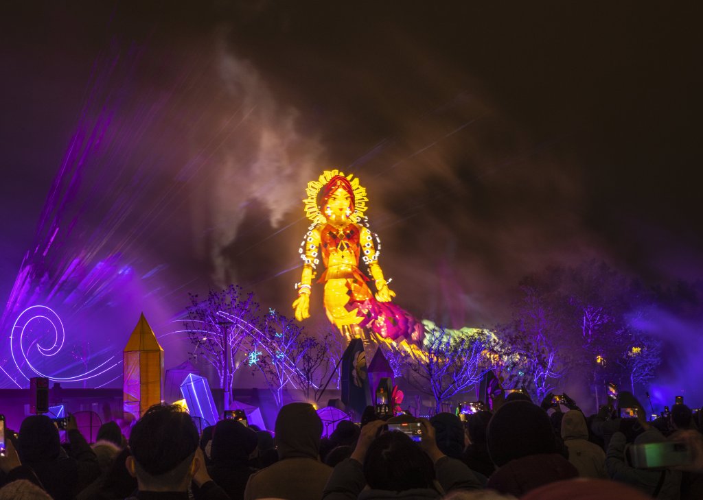
[[[212,464],[207,472],[231,500],[242,500],[249,476],[258,469],[249,458],[257,447],[257,434],[236,420],[221,420],[212,432]],[[197,496],[197,495],[196,495]]]

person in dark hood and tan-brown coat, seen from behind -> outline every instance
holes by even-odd
[[[276,417],[275,442],[280,460],[250,476],[245,500],[318,499],[332,473],[320,461],[322,421],[309,403],[286,404]]]

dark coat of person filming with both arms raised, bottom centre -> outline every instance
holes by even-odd
[[[460,489],[480,489],[475,476],[467,466],[456,459],[444,456],[434,463],[434,473],[437,482],[444,492]],[[325,486],[323,500],[436,500],[441,499],[437,489],[415,488],[403,492],[389,492],[385,489],[364,489],[366,478],[363,466],[354,459],[346,459],[337,463],[332,477]]]

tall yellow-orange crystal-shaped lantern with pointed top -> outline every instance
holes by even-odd
[[[124,347],[122,363],[122,406],[140,418],[162,400],[164,350],[142,313]]]

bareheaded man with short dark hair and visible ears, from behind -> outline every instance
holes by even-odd
[[[188,500],[191,480],[199,488],[199,499],[228,500],[209,477],[198,442],[195,424],[180,407],[150,407],[129,435],[126,466],[138,485],[131,500]]]

